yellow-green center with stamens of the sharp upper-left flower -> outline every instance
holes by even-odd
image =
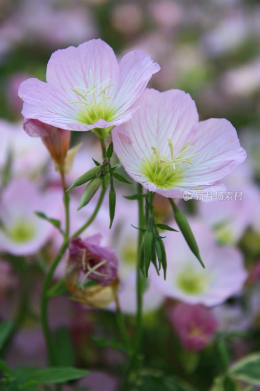
[[[70,103],[80,103],[82,105],[78,120],[83,124],[95,124],[99,119],[109,122],[116,114],[116,110],[107,104],[107,101],[111,98],[111,96],[108,96],[108,88],[113,84],[108,84],[110,79],[107,79],[99,86],[95,86],[92,71],[90,70],[89,73],[89,88],[72,87],[79,99]]]

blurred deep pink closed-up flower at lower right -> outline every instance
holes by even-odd
[[[198,351],[205,348],[218,326],[211,311],[202,305],[180,303],[172,308],[169,316],[187,350]]]

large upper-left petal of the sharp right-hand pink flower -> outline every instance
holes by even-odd
[[[147,88],[135,104],[139,105],[132,120],[112,132],[114,150],[119,158],[123,157],[120,162],[126,171],[132,170],[133,164],[138,169],[140,162],[152,155],[152,147],[169,155],[168,139],[178,153],[199,120],[194,101],[180,90],[159,92]],[[123,136],[126,132],[131,143]]]

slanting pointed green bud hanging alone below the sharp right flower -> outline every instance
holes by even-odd
[[[187,217],[184,215],[184,213],[178,208],[178,206],[175,204],[175,202],[168,198],[170,201],[170,204],[173,208],[173,213],[175,220],[177,222],[178,227],[180,228],[180,231],[186,240],[189,248],[191,249],[192,253],[195,255],[195,257],[200,261],[200,264],[203,268],[205,268],[205,265],[203,261],[200,258],[200,250],[198,247],[198,244],[196,242],[196,239],[194,238],[193,232],[191,230],[191,227],[189,225],[189,222],[187,220]]]

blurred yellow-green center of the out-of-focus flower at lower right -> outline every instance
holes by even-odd
[[[191,267],[185,268],[177,278],[177,285],[184,293],[199,295],[207,290],[211,278],[205,271],[195,271]]]

